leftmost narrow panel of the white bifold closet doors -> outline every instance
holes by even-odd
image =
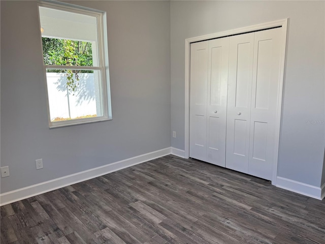
[[[190,46],[189,156],[206,161],[209,42]]]

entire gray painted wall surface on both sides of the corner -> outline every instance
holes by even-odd
[[[72,3],[107,11],[113,120],[48,128],[36,1],[1,1],[2,193],[184,149],[184,39],[287,17],[279,176],[325,182],[324,126],[308,123],[324,121],[324,2]]]

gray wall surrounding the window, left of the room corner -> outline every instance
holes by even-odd
[[[170,147],[170,3],[73,4],[107,11],[113,120],[48,128],[37,2],[1,1],[2,193]]]

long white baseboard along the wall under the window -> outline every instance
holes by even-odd
[[[171,154],[171,147],[0,194],[0,206]]]

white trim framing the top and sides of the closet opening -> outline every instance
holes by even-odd
[[[281,47],[281,60],[280,60],[280,85],[278,89],[278,101],[277,101],[277,111],[276,111],[276,145],[279,145],[280,138],[280,122],[281,122],[281,108],[282,108],[282,89],[283,89],[283,77],[284,77],[284,64],[285,64],[285,48],[286,48],[286,35],[287,35],[287,22],[288,19],[280,19],[276,21],[271,21],[262,24],[250,25],[242,28],[231,29],[225,32],[218,32],[214,34],[208,34],[199,37],[187,38],[185,39],[185,158],[189,158],[189,67],[190,67],[190,44],[193,42],[205,41],[209,39],[215,39],[220,37],[231,36],[235,34],[243,34],[247,32],[260,31],[262,29],[282,26],[281,39],[282,39],[282,47]],[[273,166],[273,177],[272,177],[272,185],[276,185],[277,179],[277,169],[278,169],[278,153],[279,146],[275,147],[274,150],[274,159],[275,164]]]

